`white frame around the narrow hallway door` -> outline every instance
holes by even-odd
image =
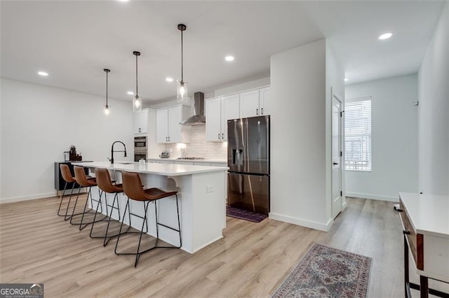
[[[343,101],[341,99],[342,97],[339,96],[339,94],[335,94],[333,87],[330,87],[330,107],[331,107],[331,113],[330,113],[330,131],[331,131],[331,135],[332,135],[332,129],[333,129],[333,113],[332,113],[332,107],[333,107],[333,100],[336,99],[339,103],[340,103],[340,119],[339,119],[339,123],[340,123],[340,152],[342,152],[341,156],[340,156],[340,212],[343,211],[344,208],[344,195],[343,195],[343,166],[344,166],[344,161],[343,161],[343,113],[344,113],[344,106],[343,106]],[[337,217],[337,215],[335,215],[335,217],[333,216],[333,186],[334,186],[334,180],[333,180],[333,142],[330,142],[330,214],[331,217],[333,219],[335,219]]]

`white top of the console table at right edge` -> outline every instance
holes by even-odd
[[[449,239],[449,196],[399,192],[417,234]]]

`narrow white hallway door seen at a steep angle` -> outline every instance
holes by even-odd
[[[332,217],[342,211],[342,101],[332,93]]]

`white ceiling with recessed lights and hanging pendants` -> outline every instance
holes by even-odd
[[[270,56],[328,38],[347,83],[415,73],[447,1],[1,1],[1,77],[148,104],[269,76]],[[386,41],[377,36],[391,31]],[[234,62],[225,62],[234,55]],[[37,75],[46,71],[47,77]]]

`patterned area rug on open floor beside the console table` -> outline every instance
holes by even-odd
[[[366,297],[371,258],[314,243],[272,297]]]

